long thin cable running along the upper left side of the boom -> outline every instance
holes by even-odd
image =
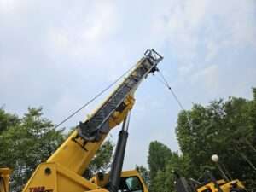
[[[84,103],[83,106],[81,106],[80,108],[78,108],[76,111],[74,111],[73,113],[71,113],[69,116],[67,116],[67,118],[63,119],[61,121],[61,123],[55,125],[55,129],[57,127],[59,127],[60,125],[64,124],[67,120],[73,118],[73,116],[77,113],[79,113],[79,111],[81,111],[83,108],[87,107],[91,102],[95,101],[96,98],[98,98],[99,96],[102,96],[102,94],[104,92],[106,92],[107,90],[109,90],[111,87],[113,87],[114,84],[117,84],[119,82],[120,79],[123,79],[125,77],[125,75],[127,73],[129,73],[131,71],[131,69],[133,67],[136,67],[137,64],[133,65],[132,67],[130,67],[127,71],[125,71],[125,73],[123,73],[121,76],[119,76],[118,79],[115,79],[111,84],[109,84],[105,89],[103,89],[102,91],[100,91],[98,94],[96,94],[96,96],[92,97],[88,102]]]

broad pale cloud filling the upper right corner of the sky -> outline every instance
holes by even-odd
[[[168,3],[154,27],[169,41],[170,51],[181,64],[188,65],[202,54],[211,61],[221,49],[255,47],[255,4],[198,0]]]

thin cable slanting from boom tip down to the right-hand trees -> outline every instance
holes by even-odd
[[[165,78],[165,76],[163,75],[163,73],[161,73],[160,70],[158,70],[158,72],[160,73],[160,77],[161,77],[162,80],[161,80],[161,79],[158,79],[156,76],[154,76],[154,77],[156,77],[156,79],[158,79],[158,81],[160,81],[160,83],[164,84],[164,85],[168,88],[168,90],[171,91],[172,96],[174,97],[174,99],[175,99],[175,101],[177,102],[178,106],[179,106],[179,107],[184,111],[184,113],[186,114],[186,118],[187,118],[188,123],[189,123],[189,128],[190,128],[190,129],[193,129],[192,120],[191,120],[191,118],[189,117],[188,111],[185,110],[185,108],[183,107],[182,102],[180,102],[180,100],[178,99],[177,94],[174,92],[174,90],[172,89],[171,85],[168,83],[168,81],[167,81],[167,79]]]

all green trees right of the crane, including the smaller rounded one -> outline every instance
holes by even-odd
[[[149,145],[150,192],[174,191],[172,171],[198,179],[210,170],[222,177],[211,160],[212,154],[218,154],[219,165],[228,176],[240,179],[248,190],[255,191],[255,88],[253,100],[230,97],[208,106],[194,104],[191,110],[179,113],[176,133],[180,155],[158,142]]]

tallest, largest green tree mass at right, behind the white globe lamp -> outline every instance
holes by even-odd
[[[179,113],[177,140],[183,154],[189,157],[196,177],[206,169],[221,177],[211,161],[212,154],[218,154],[220,164],[231,177],[245,181],[248,188],[256,188],[252,182],[256,180],[252,166],[256,166],[255,93],[253,89],[252,101],[230,97],[227,101],[213,101],[207,107],[195,104],[191,110]]]

